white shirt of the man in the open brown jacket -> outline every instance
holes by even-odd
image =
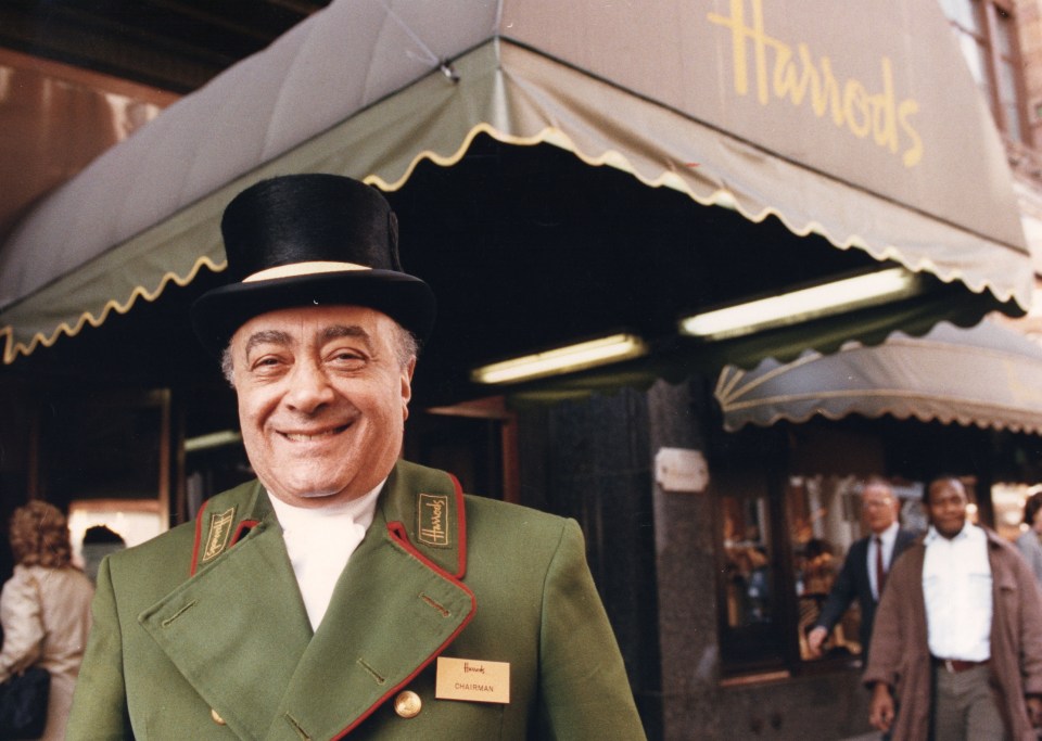
[[[991,657],[991,564],[988,536],[966,523],[952,539],[926,535],[923,598],[930,653],[938,659]]]

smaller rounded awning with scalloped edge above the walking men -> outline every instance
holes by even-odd
[[[724,426],[770,426],[813,417],[939,421],[1042,433],[1042,347],[983,321],[970,329],[941,322],[922,337],[894,333],[865,347],[805,353],[782,363],[721,373],[715,396]]]

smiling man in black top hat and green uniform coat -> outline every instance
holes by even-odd
[[[192,309],[257,481],[109,557],[68,739],[643,739],[570,520],[398,460],[434,299],[394,214],[288,176]]]

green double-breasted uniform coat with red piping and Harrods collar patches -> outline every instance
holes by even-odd
[[[577,524],[410,463],[314,634],[257,482],[109,557],[93,614],[71,740],[644,738]],[[439,656],[508,663],[509,702],[435,699]]]

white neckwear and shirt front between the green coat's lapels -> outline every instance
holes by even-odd
[[[358,499],[314,509],[293,507],[268,495],[282,526],[312,630],[318,630],[336,580],[372,524],[381,488],[383,483]]]

